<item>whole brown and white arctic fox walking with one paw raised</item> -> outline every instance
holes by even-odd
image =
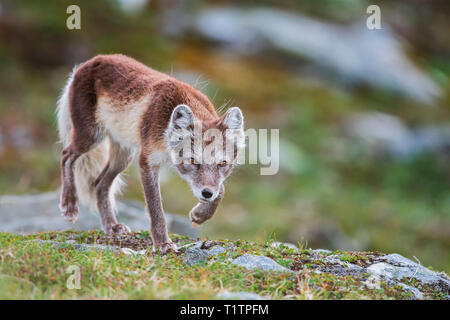
[[[64,146],[63,217],[76,221],[80,198],[98,210],[107,234],[129,233],[117,222],[114,196],[120,173],[138,155],[153,251],[161,254],[176,251],[176,246],[162,208],[160,167],[171,164],[188,182],[199,199],[189,217],[194,225],[201,224],[215,213],[224,196],[223,182],[245,146],[238,107],[219,116],[192,86],[120,54],[98,55],[74,68],[58,101],[58,129]],[[208,131],[219,136],[206,138]],[[206,163],[202,156],[211,146],[215,161]]]

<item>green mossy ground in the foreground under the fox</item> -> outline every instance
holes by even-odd
[[[172,234],[178,246],[193,239]],[[33,235],[0,233],[0,298],[1,299],[216,299],[218,293],[254,292],[271,299],[408,299],[411,294],[398,286],[381,283],[369,289],[364,281],[368,274],[339,276],[318,272],[317,265],[326,262],[314,259],[311,249],[298,250],[273,240],[253,243],[233,241],[233,250],[210,257],[192,267],[183,260],[183,251],[167,256],[103,251],[78,251],[73,246],[54,247],[30,240],[75,240],[77,243],[103,243],[148,248],[151,238],[146,231],[135,232],[127,239],[108,238],[100,231],[47,232]],[[125,241],[126,240],[126,241]],[[230,245],[228,240],[205,242],[212,246]],[[243,253],[265,255],[294,273],[249,271],[230,264]],[[335,251],[343,261],[364,265],[379,253]],[[326,256],[327,254],[323,254]],[[70,267],[80,270],[79,289],[69,289]],[[72,267],[73,268],[73,267]],[[408,283],[409,285],[411,282]],[[432,290],[426,298],[440,298]]]

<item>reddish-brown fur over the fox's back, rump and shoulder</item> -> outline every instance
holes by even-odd
[[[98,55],[84,63],[75,73],[70,92],[72,119],[89,127],[87,131],[95,127],[97,97],[102,95],[126,105],[152,94],[141,131],[143,139],[150,142],[161,139],[179,104],[189,105],[201,121],[219,119],[213,104],[192,86],[121,54]]]

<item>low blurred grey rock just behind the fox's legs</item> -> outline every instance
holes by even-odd
[[[52,230],[100,229],[99,217],[80,206],[78,220],[73,224],[61,217],[58,209],[59,191],[29,195],[6,195],[0,197],[0,231],[33,233]],[[137,201],[117,201],[118,219],[132,230],[147,230],[150,226],[144,205]],[[166,214],[170,232],[198,236],[191,222],[176,214]]]

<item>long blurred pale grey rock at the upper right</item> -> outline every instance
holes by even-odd
[[[167,21],[172,33],[194,32],[243,55],[287,55],[298,64],[309,60],[317,70],[334,73],[344,83],[362,82],[426,103],[442,95],[437,83],[408,58],[386,23],[373,32],[363,25],[365,21],[342,26],[282,10],[234,7]]]

